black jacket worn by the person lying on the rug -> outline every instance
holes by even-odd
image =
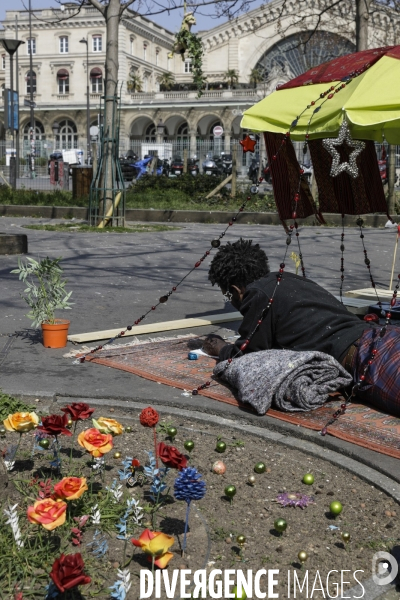
[[[275,289],[278,273],[270,273],[246,287],[240,312],[240,338],[225,346],[220,360],[237,355],[238,349],[254,331],[263,308]],[[251,337],[247,352],[268,349],[318,350],[341,361],[348,348],[369,324],[336,300],[311,279],[284,273],[273,304],[258,332]]]

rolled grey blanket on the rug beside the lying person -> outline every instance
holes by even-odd
[[[323,352],[263,350],[218,363],[214,375],[238,390],[239,400],[263,415],[272,406],[306,411],[322,406],[328,394],[348,386],[352,377]]]

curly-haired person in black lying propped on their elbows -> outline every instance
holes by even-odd
[[[278,277],[281,281],[273,303],[251,337],[273,296]],[[211,335],[203,344],[206,352],[223,361],[268,349],[316,350],[333,356],[352,375],[354,383],[371,361],[356,397],[400,416],[400,327],[389,325],[380,338],[379,325],[349,313],[314,281],[292,273],[270,273],[265,252],[251,240],[222,246],[211,263],[208,278],[241,312],[243,321],[235,344]],[[249,338],[247,347],[240,351]],[[377,352],[372,354],[374,348]]]

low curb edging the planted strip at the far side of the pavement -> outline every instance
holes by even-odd
[[[148,223],[225,223],[231,213],[226,211],[204,210],[158,210],[144,208],[127,208],[127,221],[144,221]],[[0,205],[0,216],[3,217],[33,217],[44,219],[82,219],[87,220],[88,209],[82,206],[27,206],[16,204]],[[387,216],[384,214],[361,215],[366,227],[384,227]],[[339,227],[342,218],[339,214],[326,213],[326,225],[320,225],[314,216],[298,219],[300,225],[315,227]],[[346,215],[345,227],[356,227],[358,215]],[[237,223],[242,225],[281,225],[276,212],[242,212],[237,216]]]

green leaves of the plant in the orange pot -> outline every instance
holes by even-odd
[[[48,256],[40,262],[26,258],[23,262],[18,258],[18,269],[11,273],[19,275],[20,281],[27,286],[23,296],[28,306],[31,308],[27,317],[32,319],[32,327],[38,327],[41,323],[55,323],[54,311],[58,309],[68,310],[71,303],[68,302],[72,294],[66,292],[66,279],[62,279],[62,269],[60,267],[60,258],[51,260]]]

